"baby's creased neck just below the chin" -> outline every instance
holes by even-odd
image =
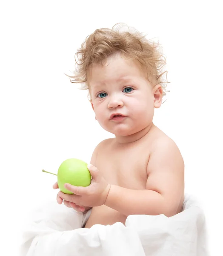
[[[137,133],[127,135],[127,136],[115,136],[116,137],[116,143],[125,144],[125,143],[133,143],[137,140],[142,139],[147,134],[150,134],[152,130],[154,129],[155,125],[152,123],[149,126],[146,126],[141,131],[138,131]]]

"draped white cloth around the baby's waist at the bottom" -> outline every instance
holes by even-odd
[[[35,215],[23,230],[20,256],[209,255],[205,216],[191,195],[177,215],[130,215],[126,225],[81,228],[86,215],[56,202]]]

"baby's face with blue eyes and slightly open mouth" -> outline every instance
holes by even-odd
[[[104,66],[93,64],[89,92],[96,119],[106,131],[128,136],[152,124],[154,88],[136,61],[117,54]],[[111,119],[112,114],[124,117]]]

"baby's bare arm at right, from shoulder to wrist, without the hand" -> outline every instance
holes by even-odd
[[[111,185],[105,205],[124,215],[175,215],[184,196],[184,163],[177,145],[159,140],[149,157],[146,189]]]

